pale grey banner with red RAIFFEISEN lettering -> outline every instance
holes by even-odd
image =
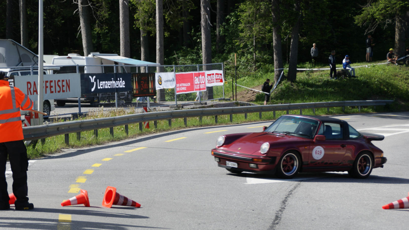
[[[15,76],[14,85],[29,96],[38,100],[38,75]],[[81,97],[80,74],[44,74],[44,100]]]

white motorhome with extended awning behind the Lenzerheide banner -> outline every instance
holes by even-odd
[[[54,74],[137,73],[138,66],[158,65],[152,62],[122,57],[118,54],[100,54],[98,52],[90,53],[88,56],[81,56],[79,54],[56,56],[53,57],[53,61],[51,62],[51,64],[60,67],[60,70],[53,72]],[[113,65],[119,65],[116,67],[116,71]],[[125,100],[125,102],[127,103],[132,102],[131,92],[121,92],[119,93],[118,97],[122,100]],[[81,102],[90,103],[94,106],[99,106],[100,101],[111,100],[115,100],[115,96],[113,96],[112,94],[85,94],[81,97]],[[78,99],[58,99],[56,100],[56,102],[58,106],[64,106],[67,102],[78,102]]]

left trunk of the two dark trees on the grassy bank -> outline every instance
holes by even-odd
[[[283,68],[283,52],[281,47],[281,22],[280,22],[280,5],[279,0],[272,0],[272,46],[274,49],[274,84],[280,78]]]

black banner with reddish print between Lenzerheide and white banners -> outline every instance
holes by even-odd
[[[155,73],[132,74],[132,88],[134,97],[155,96]]]

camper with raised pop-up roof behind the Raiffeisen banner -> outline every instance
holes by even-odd
[[[33,66],[33,75],[38,75],[38,56],[29,49],[11,39],[0,39],[0,71],[6,73],[9,77],[10,85],[14,85],[14,77],[31,75],[31,66]],[[54,68],[44,64],[44,74],[49,74],[49,70]],[[38,105],[36,105],[37,109]],[[43,111],[50,114],[55,110],[54,100],[43,101]],[[20,114],[25,111],[21,110]],[[46,117],[47,118],[47,117]]]

